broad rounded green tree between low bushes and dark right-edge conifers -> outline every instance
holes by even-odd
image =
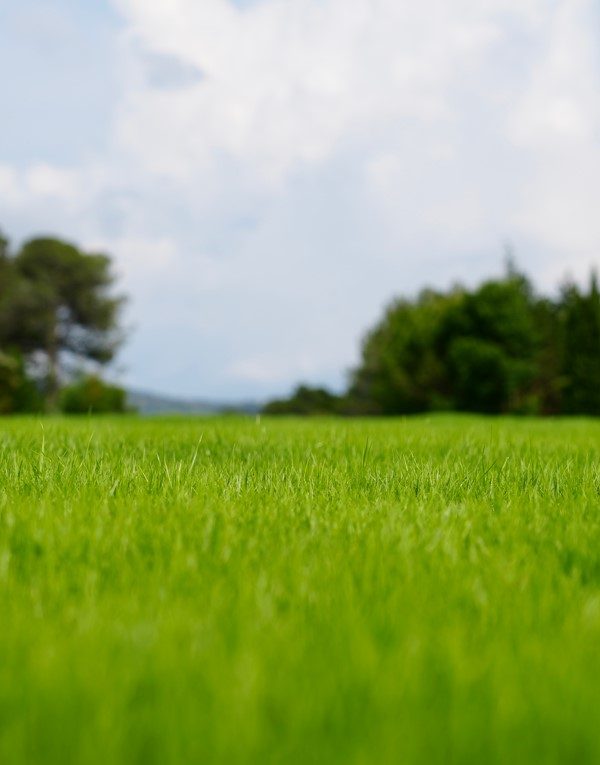
[[[350,401],[362,411],[531,411],[539,338],[536,300],[512,264],[469,292],[398,300],[367,335]]]

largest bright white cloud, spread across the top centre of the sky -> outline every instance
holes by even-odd
[[[121,0],[130,53],[176,56],[204,73],[167,93],[136,78],[121,146],[176,178],[207,172],[225,152],[276,182],[373,128],[443,125],[449,89],[501,43],[498,14],[511,5],[527,23],[531,10],[517,2],[265,0],[240,12],[226,0]]]

